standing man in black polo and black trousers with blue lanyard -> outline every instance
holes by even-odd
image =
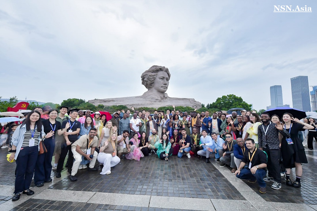
[[[77,141],[77,136],[80,131],[80,126],[81,123],[76,120],[78,116],[77,111],[71,111],[70,112],[70,119],[63,121],[61,124],[61,129],[64,129],[66,127],[66,124],[69,123],[70,127],[67,129],[67,131],[63,134],[66,140],[66,143],[61,144],[61,155],[57,163],[57,168],[56,168],[56,177],[59,178],[61,177],[61,170],[63,168],[63,164],[68,152],[68,173],[70,174],[72,172],[72,167],[73,167],[73,153],[72,153],[72,148],[71,145]]]

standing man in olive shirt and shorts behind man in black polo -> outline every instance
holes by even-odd
[[[60,107],[60,114],[57,115],[56,117],[56,121],[59,121],[61,124],[63,123],[63,121],[68,120],[69,118],[65,115],[68,111],[68,107],[63,105]],[[59,136],[57,133],[55,135],[55,149],[54,149],[54,153],[53,156],[55,156],[55,161],[54,161],[54,165],[52,167],[52,169],[56,169],[57,168],[57,163],[59,160],[59,157],[61,155],[61,143],[65,141],[65,138],[63,135]]]

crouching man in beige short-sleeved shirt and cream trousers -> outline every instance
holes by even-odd
[[[94,168],[98,153],[95,151],[95,148],[98,144],[97,129],[91,128],[88,135],[82,135],[77,141],[75,141],[71,148],[74,155],[74,164],[70,176],[70,181],[76,181],[77,177],[75,176],[78,171],[78,167],[81,163],[81,157],[84,156],[84,159],[90,161],[88,171],[97,171]]]

